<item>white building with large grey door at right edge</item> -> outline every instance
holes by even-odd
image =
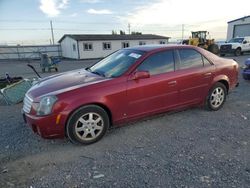
[[[250,16],[227,22],[227,41],[234,37],[250,36]]]

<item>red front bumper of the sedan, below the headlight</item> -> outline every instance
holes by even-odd
[[[48,116],[35,116],[22,112],[23,119],[34,133],[42,138],[64,138],[67,116],[65,114],[52,114]],[[58,115],[60,115],[58,120]]]

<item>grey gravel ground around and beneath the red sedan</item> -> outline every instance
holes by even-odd
[[[65,61],[59,70],[91,63]],[[10,64],[0,62],[1,72],[33,76],[25,63]],[[217,112],[154,116],[89,146],[41,139],[21,108],[0,105],[0,187],[250,187],[250,82],[242,78]]]

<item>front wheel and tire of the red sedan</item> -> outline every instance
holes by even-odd
[[[66,125],[66,134],[75,144],[92,144],[105,135],[109,125],[109,116],[103,108],[87,105],[70,116]]]

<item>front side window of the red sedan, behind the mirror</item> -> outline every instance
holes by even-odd
[[[150,75],[174,71],[173,52],[165,51],[153,54],[142,62],[137,70],[149,71]]]

